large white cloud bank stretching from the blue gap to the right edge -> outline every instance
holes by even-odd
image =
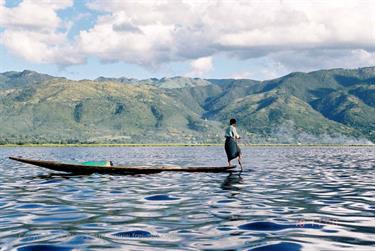
[[[101,57],[142,65],[220,52],[247,59],[291,50],[375,50],[373,1],[94,1],[89,7],[108,14],[84,36],[100,37],[105,23],[106,34],[119,41],[101,40]],[[113,29],[121,24],[132,29]]]

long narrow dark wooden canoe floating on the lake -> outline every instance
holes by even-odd
[[[63,163],[47,160],[32,160],[21,157],[9,157],[11,160],[44,167],[50,170],[77,174],[134,174],[134,173],[159,173],[159,172],[223,172],[236,166],[88,166],[82,164]]]

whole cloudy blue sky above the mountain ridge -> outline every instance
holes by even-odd
[[[0,0],[0,72],[271,79],[375,65],[373,1]]]

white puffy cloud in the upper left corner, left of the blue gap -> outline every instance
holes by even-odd
[[[10,52],[35,63],[71,65],[83,63],[80,55],[68,39],[59,32],[64,22],[57,11],[73,5],[72,0],[24,0],[18,6],[6,8],[0,4],[0,43]]]

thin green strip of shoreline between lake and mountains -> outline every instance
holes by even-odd
[[[375,144],[239,144],[241,147],[375,147]],[[223,144],[3,144],[0,147],[206,147]]]

